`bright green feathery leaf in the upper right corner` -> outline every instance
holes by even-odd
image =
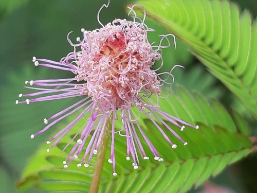
[[[257,116],[257,22],[228,1],[137,1]],[[251,24],[252,23],[252,24]]]

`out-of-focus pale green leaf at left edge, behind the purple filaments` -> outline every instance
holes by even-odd
[[[38,140],[30,140],[31,133],[44,126],[44,117],[48,116],[49,113],[53,114],[60,111],[63,108],[62,102],[69,104],[72,101],[72,99],[64,99],[62,101],[49,101],[48,103],[39,102],[29,106],[16,105],[15,100],[19,99],[19,93],[24,93],[25,90],[23,88],[26,80],[24,76],[31,79],[58,76],[54,71],[48,72],[46,68],[38,68],[38,71],[34,71],[33,68],[31,64],[24,66],[20,72],[9,73],[7,83],[0,86],[2,91],[0,93],[0,150],[5,162],[14,171],[20,171],[24,167],[28,156],[46,137],[43,134],[39,136]]]

